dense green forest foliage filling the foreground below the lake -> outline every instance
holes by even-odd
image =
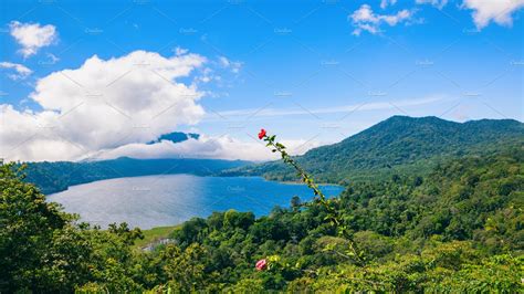
[[[138,229],[77,223],[13,165],[0,167],[0,292],[523,291],[524,151],[450,161],[425,178],[355,183],[328,200],[363,260],[293,201],[255,219],[214,212],[177,228],[174,244],[134,249]],[[270,262],[254,270],[256,260]]]

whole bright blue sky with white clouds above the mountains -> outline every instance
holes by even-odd
[[[524,0],[0,1],[4,160],[274,158],[392,115],[524,119]],[[201,134],[184,143],[171,132]]]

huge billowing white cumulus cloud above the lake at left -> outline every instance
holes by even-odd
[[[102,149],[154,140],[205,115],[203,95],[180,82],[206,62],[198,54],[170,57],[135,51],[78,69],[54,72],[30,95],[42,111],[0,105],[0,157],[74,160]]]

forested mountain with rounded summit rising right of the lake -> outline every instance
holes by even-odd
[[[387,177],[391,172],[422,175],[444,159],[488,154],[515,143],[524,144],[524,124],[513,119],[460,124],[437,117],[392,116],[340,143],[312,149],[295,160],[318,181],[344,182]],[[296,179],[293,170],[281,161],[224,174]]]

